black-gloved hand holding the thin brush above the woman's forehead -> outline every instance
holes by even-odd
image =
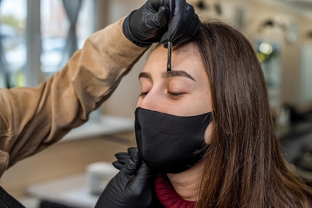
[[[148,0],[131,12],[123,23],[125,36],[138,46],[160,42],[166,47],[168,41],[175,46],[191,39],[200,27],[194,7],[186,0],[175,0],[170,20],[169,1]]]

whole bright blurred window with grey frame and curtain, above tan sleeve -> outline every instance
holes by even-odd
[[[35,87],[61,70],[95,31],[94,3],[0,0],[0,88]]]

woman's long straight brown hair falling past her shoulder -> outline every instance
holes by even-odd
[[[264,75],[248,39],[210,20],[193,43],[214,109],[197,207],[311,208],[311,188],[279,150]]]

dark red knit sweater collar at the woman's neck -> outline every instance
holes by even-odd
[[[155,181],[156,197],[165,208],[194,208],[195,202],[183,200],[173,189],[165,174],[158,173]]]

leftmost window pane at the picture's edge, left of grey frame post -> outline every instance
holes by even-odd
[[[25,0],[0,1],[0,88],[25,85]]]

